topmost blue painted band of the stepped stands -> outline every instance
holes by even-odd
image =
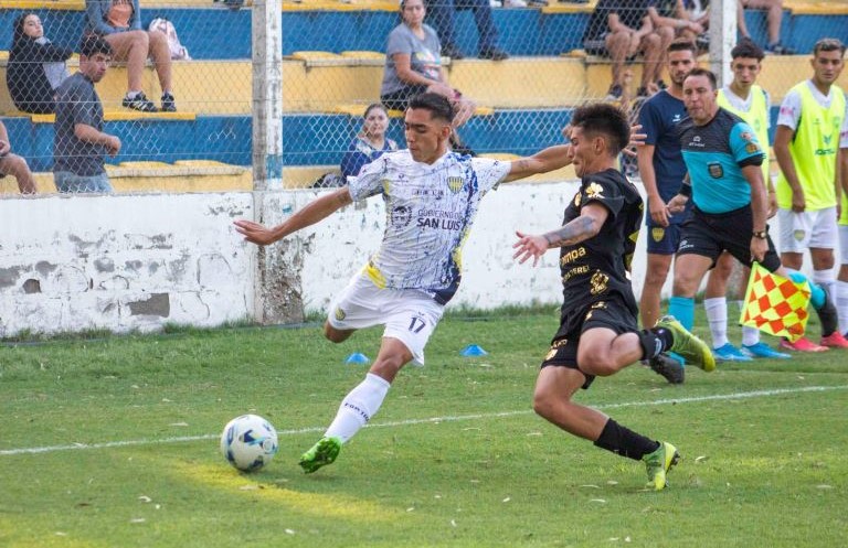
[[[22,10],[0,11],[0,49],[11,46],[14,18]],[[822,36],[848,42],[848,15],[789,15],[783,19],[785,45],[799,53],[812,50]],[[46,35],[62,45],[75,46],[84,28],[81,11],[40,11]],[[145,25],[156,17],[173,21],[180,41],[199,60],[251,57],[251,12],[223,7],[209,9],[144,9]],[[586,13],[544,14],[534,9],[496,9],[499,45],[512,55],[559,55],[581,47]],[[753,37],[764,44],[765,14],[746,11],[745,20]],[[346,50],[383,51],[385,37],[399,23],[398,13],[382,11],[298,11],[283,13],[283,53],[299,50],[341,52]],[[477,53],[477,29],[469,11],[456,14],[458,45],[469,55]]]

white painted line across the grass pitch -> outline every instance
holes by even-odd
[[[820,393],[830,390],[845,390],[848,389],[848,385],[837,386],[804,386],[798,388],[773,388],[768,390],[753,390],[734,394],[713,394],[709,396],[692,396],[688,398],[665,398],[653,399],[644,401],[626,401],[622,404],[598,404],[590,405],[595,409],[619,409],[623,407],[647,407],[647,406],[664,406],[664,405],[677,405],[677,404],[698,404],[702,401],[716,401],[716,400],[731,400],[731,399],[749,399],[749,398],[766,398],[771,396],[782,396],[786,394],[802,394],[802,393]],[[499,411],[488,413],[473,413],[473,415],[458,415],[446,417],[432,417],[428,419],[406,419],[396,420],[390,422],[375,422],[368,425],[367,428],[393,428],[393,427],[406,427],[414,425],[426,425],[437,422],[456,422],[463,420],[476,420],[476,419],[496,419],[501,417],[513,417],[517,415],[528,415],[532,412],[531,409],[521,409],[515,411]],[[296,436],[310,432],[322,432],[326,427],[309,427],[298,428],[293,430],[277,430],[277,436]],[[158,440],[140,439],[140,440],[126,440],[126,441],[106,441],[102,443],[71,443],[67,445],[45,445],[39,448],[17,448],[17,449],[0,449],[0,456],[13,456],[19,454],[39,454],[39,453],[54,453],[59,451],[73,451],[73,450],[92,450],[92,449],[113,449],[125,448],[134,445],[159,445],[165,443],[184,443],[191,441],[201,440],[214,440],[220,438],[220,433],[208,433],[202,436],[178,436],[172,438],[162,438]]]

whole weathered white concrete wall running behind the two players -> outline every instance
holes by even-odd
[[[451,305],[558,303],[556,254],[532,268],[512,261],[515,230],[560,225],[574,183],[507,184],[484,198]],[[0,200],[0,336],[102,327],[150,331],[166,323],[299,321],[331,297],[380,245],[379,198],[259,250],[235,218],[279,223],[315,191],[39,196]],[[255,207],[254,200],[263,202]],[[644,237],[634,286],[644,277]],[[256,293],[255,287],[266,288]]]

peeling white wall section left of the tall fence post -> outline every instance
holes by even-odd
[[[251,194],[0,200],[0,336],[253,314],[254,254],[230,228]]]

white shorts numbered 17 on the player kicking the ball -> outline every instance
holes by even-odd
[[[424,346],[445,311],[427,293],[416,289],[380,289],[357,275],[330,305],[327,322],[337,330],[385,325],[383,336],[398,339],[417,365],[424,365]]]

